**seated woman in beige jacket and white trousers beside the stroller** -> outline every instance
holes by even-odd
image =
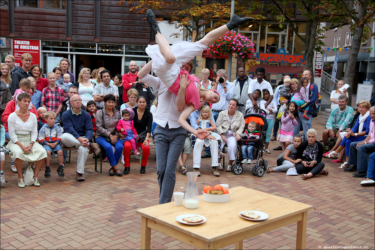
[[[226,168],[226,172],[232,171],[232,164],[236,160],[237,141],[241,139],[242,132],[245,129],[243,114],[237,108],[238,100],[235,98],[229,100],[228,109],[221,111],[216,121],[216,133],[223,140],[220,147],[221,150],[225,143],[228,145],[229,165]]]

